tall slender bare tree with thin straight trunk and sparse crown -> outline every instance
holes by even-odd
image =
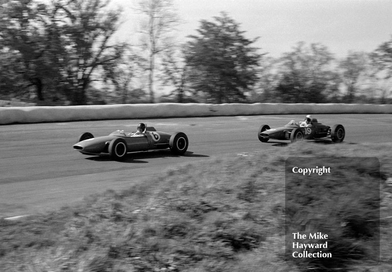
[[[173,45],[172,32],[179,24],[173,0],[140,0],[137,8],[145,20],[141,22],[142,48],[147,51],[148,92],[154,103],[154,79],[158,58]]]

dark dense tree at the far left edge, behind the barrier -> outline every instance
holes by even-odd
[[[56,33],[50,31],[50,8],[34,0],[0,1],[0,50],[2,58],[0,78],[7,85],[22,87],[15,97],[24,96],[30,86],[35,87],[38,100],[44,100],[47,78],[57,77],[55,54]],[[54,34],[54,35],[53,35]],[[9,68],[7,65],[12,62]],[[11,73],[13,71],[13,73]],[[3,81],[4,82],[4,81]]]

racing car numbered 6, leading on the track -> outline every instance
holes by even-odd
[[[183,155],[188,149],[188,144],[185,133],[176,132],[171,135],[146,126],[141,134],[116,130],[108,136],[94,137],[91,133],[85,132],[79,136],[73,149],[85,155],[109,155],[114,160],[123,160],[127,153],[155,149],[170,148],[173,154]]]

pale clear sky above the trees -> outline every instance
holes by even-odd
[[[137,0],[112,0],[124,8],[118,36],[132,37],[138,17],[132,7]],[[392,39],[392,0],[173,0],[183,23],[176,36],[186,41],[196,34],[200,20],[214,21],[228,13],[245,31],[245,38],[260,53],[280,57],[298,42],[319,43],[337,57],[349,51],[371,52]]]

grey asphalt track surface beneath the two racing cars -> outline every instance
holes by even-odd
[[[0,218],[51,211],[74,205],[85,196],[107,189],[121,190],[179,165],[242,153],[274,152],[290,141],[262,143],[257,130],[263,124],[283,126],[303,115],[100,120],[0,126]],[[391,142],[391,114],[319,114],[319,122],[342,124],[348,143]],[[136,130],[146,122],[157,131],[181,131],[189,138],[184,156],[170,150],[129,154],[122,162],[86,156],[72,145],[83,132],[104,136],[117,129]]]

